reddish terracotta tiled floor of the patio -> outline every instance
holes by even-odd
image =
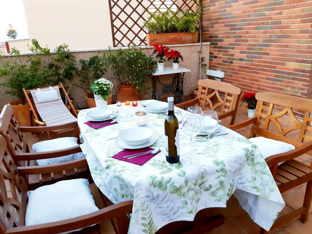
[[[240,123],[241,121],[246,120],[247,113],[243,112],[241,110],[238,110],[235,123]],[[289,124],[288,119],[280,119],[281,124],[285,126],[285,124]],[[222,120],[222,125],[228,126],[228,119]],[[272,128],[272,131],[274,129]],[[241,135],[249,138],[250,133],[250,127],[242,129],[238,131]],[[293,133],[290,134],[291,138],[297,138],[298,135],[296,132],[293,131]],[[38,137],[37,135],[27,135],[28,142],[30,145],[38,142],[39,140],[46,140],[46,135],[41,135]],[[297,158],[303,163],[306,163],[307,165],[310,165],[312,156],[310,155],[302,155]],[[280,215],[285,215],[286,213],[292,211],[293,209],[296,209],[298,207],[302,206],[303,203],[303,197],[305,192],[305,184],[302,186],[299,186],[295,189],[289,190],[282,194],[284,201],[286,204],[284,209],[282,210]],[[225,223],[224,225],[212,230],[211,232],[208,232],[209,234],[258,234],[260,232],[260,227],[254,223],[249,215],[241,208],[238,201],[234,196],[232,196],[229,201],[227,202],[226,208],[220,208],[220,211],[225,217]],[[312,208],[310,208],[310,212],[312,212]],[[299,218],[299,216],[298,216]],[[297,219],[298,219],[297,218]],[[303,224],[299,220],[293,220],[293,222],[287,226],[284,227],[278,227],[275,228],[275,230],[272,230],[270,233],[276,233],[276,234],[307,234],[311,233],[312,231],[312,213],[310,213],[308,222]],[[107,234],[115,234],[113,231],[113,228],[110,225],[110,222],[105,222],[107,224],[105,227],[107,227]],[[103,227],[103,226],[102,226]]]

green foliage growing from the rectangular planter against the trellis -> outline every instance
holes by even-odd
[[[168,9],[152,15],[144,22],[149,33],[172,33],[172,32],[197,32],[197,25],[200,21],[200,14],[189,12],[185,9],[180,12],[173,12]]]

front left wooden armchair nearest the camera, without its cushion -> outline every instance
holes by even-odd
[[[121,202],[104,208],[101,198],[101,192],[96,188],[94,183],[89,187],[95,201],[95,205],[100,209],[82,216],[37,225],[25,226],[25,215],[27,209],[27,176],[39,173],[54,173],[66,171],[72,168],[87,166],[86,159],[78,159],[72,162],[61,163],[58,165],[44,167],[18,167],[7,149],[7,143],[3,136],[0,135],[0,233],[3,234],[40,234],[40,233],[61,233],[87,227],[82,230],[86,234],[103,233],[103,221],[114,217],[126,217],[127,213],[132,212],[132,201]],[[41,186],[40,186],[41,187]],[[43,189],[43,187],[41,187]],[[66,188],[65,188],[66,189]],[[49,211],[46,211],[49,212]],[[64,207],[63,212],[66,212]],[[129,219],[129,218],[128,218]],[[95,226],[88,227],[96,224]],[[124,224],[123,232],[127,233],[128,228]],[[121,230],[120,230],[121,231]]]

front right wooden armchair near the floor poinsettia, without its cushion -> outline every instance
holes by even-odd
[[[312,165],[309,167],[295,158],[302,154],[311,154],[312,136],[307,133],[312,132],[312,126],[310,126],[310,122],[312,122],[312,118],[310,117],[310,113],[312,112],[312,100],[276,93],[257,93],[256,99],[258,100],[256,116],[240,124],[232,125],[229,128],[237,130],[252,124],[250,138],[262,136],[283,141],[296,147],[289,152],[272,155],[266,158],[266,163],[281,193],[307,182],[303,206],[285,216],[278,217],[272,228],[287,224],[299,215],[301,216],[300,221],[305,223],[308,220],[312,198]],[[274,114],[274,107],[282,109],[279,113]],[[304,113],[302,121],[295,117],[294,110]],[[286,114],[289,115],[289,118],[293,121],[293,126],[283,129],[278,118]],[[276,128],[271,128],[271,123],[273,123],[273,127],[275,125]],[[277,129],[278,133],[274,133],[269,129]],[[297,140],[285,136],[296,129],[299,130]],[[278,165],[278,163],[284,161],[285,163]],[[267,232],[261,229],[261,233]]]

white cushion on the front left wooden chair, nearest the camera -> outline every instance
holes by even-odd
[[[28,192],[25,224],[55,222],[98,210],[87,179],[64,180]]]

